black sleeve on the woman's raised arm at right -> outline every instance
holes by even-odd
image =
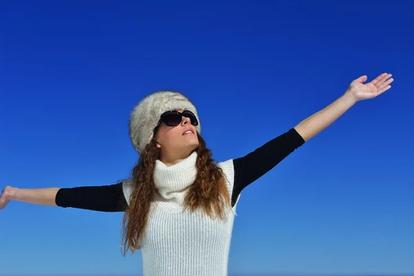
[[[246,186],[262,177],[304,143],[302,136],[295,128],[291,128],[288,132],[273,138],[248,155],[233,159],[235,184],[233,186],[232,203],[235,203]]]

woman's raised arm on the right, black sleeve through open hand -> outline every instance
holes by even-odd
[[[250,152],[248,155],[233,159],[235,167],[233,202],[246,186],[262,177],[262,175],[290,155],[291,152],[330,126],[357,101],[377,97],[391,88],[390,83],[393,82],[391,74],[387,73],[379,75],[369,83],[363,84],[366,79],[366,76],[355,79],[351,82],[344,95],[329,106],[326,106],[326,108],[304,119],[288,132],[268,141],[268,143]]]

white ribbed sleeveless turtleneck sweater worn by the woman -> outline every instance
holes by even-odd
[[[197,170],[197,153],[173,166],[157,161],[155,186],[158,194],[152,202],[148,226],[142,239],[144,276],[226,276],[228,254],[235,217],[235,205],[227,210],[227,220],[211,219],[202,210],[183,211],[188,186]],[[227,177],[228,190],[233,191],[233,160],[217,164]],[[129,204],[132,184],[124,182],[124,195]],[[237,199],[238,200],[238,199]]]

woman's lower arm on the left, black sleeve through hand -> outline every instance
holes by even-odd
[[[83,186],[74,188],[21,189],[6,187],[0,197],[0,209],[8,201],[29,204],[80,208],[100,212],[123,212],[128,204],[124,197],[123,183],[108,186]]]

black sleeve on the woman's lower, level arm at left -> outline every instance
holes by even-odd
[[[122,182],[108,186],[61,188],[55,202],[57,206],[80,208],[101,212],[123,212],[128,204]]]

